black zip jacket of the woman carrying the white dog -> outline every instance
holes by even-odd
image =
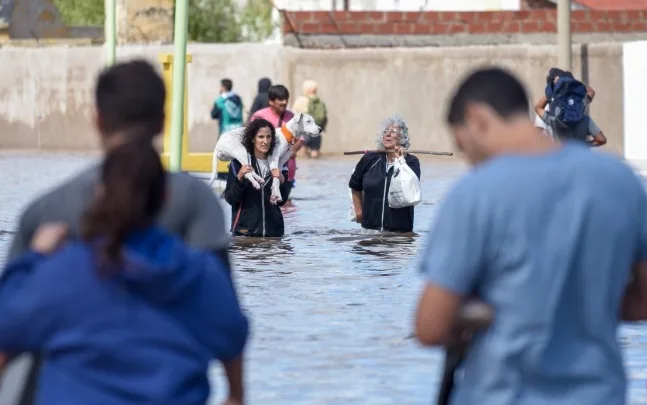
[[[251,165],[254,171],[260,175],[258,163],[253,156]],[[274,205],[270,203],[272,175],[268,174],[265,184],[260,190],[256,190],[247,179],[244,179],[242,183],[238,181],[237,174],[241,166],[237,160],[232,160],[229,164],[227,186],[224,193],[225,201],[231,205],[231,232],[234,235],[257,237],[283,236],[285,232],[283,214],[279,207],[285,204],[288,199],[289,183],[286,181],[281,184],[283,202]],[[283,172],[283,177],[288,178],[287,170]],[[236,218],[238,218],[238,222],[236,222]],[[236,229],[234,229],[234,223]]]

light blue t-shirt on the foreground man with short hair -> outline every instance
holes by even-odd
[[[620,160],[584,146],[502,156],[443,204],[422,270],[491,304],[452,404],[624,405],[620,304],[644,257],[647,198]]]

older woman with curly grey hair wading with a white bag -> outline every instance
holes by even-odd
[[[413,207],[390,208],[389,186],[396,159],[406,163],[420,179],[420,161],[406,153],[410,146],[409,129],[398,115],[382,122],[377,134],[377,149],[366,153],[355,166],[348,186],[353,196],[357,222],[364,229],[388,232],[413,231]]]

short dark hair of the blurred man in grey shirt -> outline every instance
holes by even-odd
[[[164,128],[165,99],[164,81],[147,61],[110,66],[99,75],[95,90],[101,129],[112,135],[139,128],[135,133],[155,137]]]

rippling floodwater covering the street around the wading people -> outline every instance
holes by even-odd
[[[0,155],[0,262],[25,204],[92,160]],[[301,158],[294,204],[284,213],[286,236],[234,241],[235,282],[252,326],[250,405],[434,403],[442,354],[408,338],[422,285],[416,254],[437,203],[464,166],[423,161],[417,235],[379,237],[360,235],[359,225],[347,219],[355,162]],[[230,207],[222,204],[229,220]],[[620,339],[630,403],[647,403],[647,328],[623,327]],[[226,387],[219,366],[213,378],[215,405]]]

